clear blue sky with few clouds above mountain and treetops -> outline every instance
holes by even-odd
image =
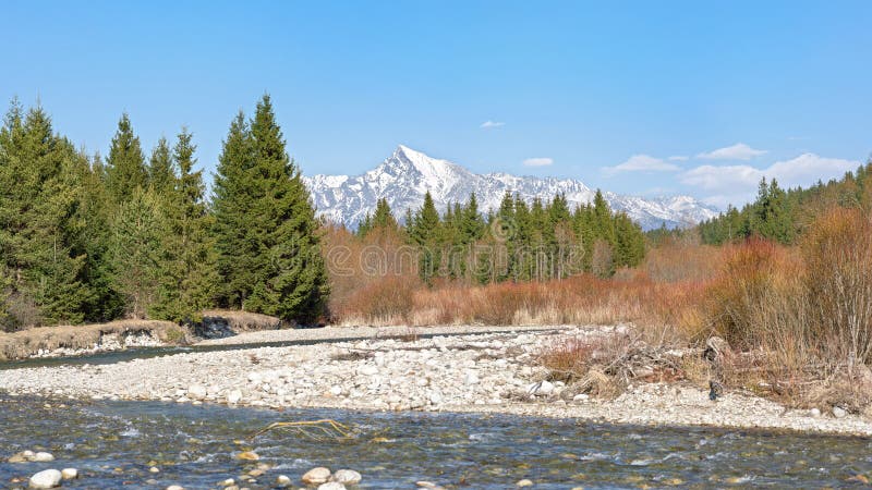
[[[741,203],[872,151],[872,2],[3,2],[0,98],[215,168],[269,91],[307,174],[398,144],[476,172]],[[489,122],[489,123],[488,123]]]

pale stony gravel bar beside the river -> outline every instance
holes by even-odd
[[[219,342],[349,336],[344,330],[331,330],[252,332],[244,334],[251,338]],[[689,383],[639,383],[615,400],[595,400],[559,382],[541,383],[547,372],[536,366],[535,357],[566,338],[609,334],[613,328],[481,330],[410,330],[404,340],[377,339],[378,332],[368,332],[370,339],[313,345],[184,353],[102,366],[20,368],[0,371],[0,390],[55,399],[505,413],[872,436],[872,421],[860,416],[835,418],[786,409],[735,392],[712,402],[707,390]]]

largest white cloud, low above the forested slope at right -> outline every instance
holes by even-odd
[[[821,181],[840,177],[855,170],[859,161],[824,158],[814,154],[802,154],[794,159],[777,161],[765,169],[748,164],[700,166],[679,176],[687,185],[708,192],[706,203],[724,207],[726,204],[741,205],[753,199],[760,180],[775,179],[783,188],[809,186]]]

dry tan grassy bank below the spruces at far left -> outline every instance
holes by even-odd
[[[0,333],[0,360],[21,359],[39,350],[88,348],[106,334],[148,332],[168,344],[185,338],[184,330],[169,321],[118,320],[110,323],[85,326],[39,327],[12,333]]]

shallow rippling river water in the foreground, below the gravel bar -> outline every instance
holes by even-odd
[[[26,486],[40,469],[75,467],[64,488],[218,488],[234,478],[252,489],[276,477],[300,485],[314,466],[363,474],[360,488],[506,489],[523,478],[536,489],[820,488],[859,485],[872,471],[872,441],[863,438],[706,428],[649,428],[513,416],[275,412],[152,402],[64,402],[0,395],[0,457],[31,450],[51,463],[0,463],[0,487]],[[352,427],[353,440],[313,441],[270,431],[279,420],[331,418]],[[259,462],[235,458],[252,450]],[[256,481],[240,477],[271,466]],[[160,473],[149,473],[155,465]],[[15,483],[16,479],[24,479]],[[250,478],[250,477],[249,477]]]

